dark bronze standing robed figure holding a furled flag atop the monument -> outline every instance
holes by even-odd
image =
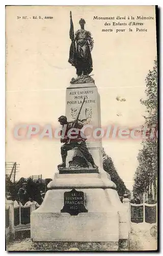
[[[86,22],[83,18],[79,20],[79,24],[81,29],[77,30],[74,36],[72,16],[70,12],[70,39],[72,42],[68,61],[76,68],[77,76],[88,76],[93,70],[91,51],[93,49],[94,41],[91,33],[85,30]]]

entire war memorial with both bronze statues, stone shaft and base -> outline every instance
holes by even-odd
[[[62,163],[48,184],[42,205],[31,214],[31,238],[40,250],[46,246],[46,250],[111,251],[128,242],[127,207],[103,170],[101,137],[94,139],[90,134],[92,127],[101,128],[100,96],[90,75],[94,41],[84,28],[85,20],[80,19],[79,24],[81,29],[74,35],[70,13],[69,62],[76,68],[77,78],[66,89],[66,113],[59,117]],[[77,130],[77,137],[73,137],[75,133],[68,136],[70,129]]]

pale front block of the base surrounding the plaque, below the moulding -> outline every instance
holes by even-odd
[[[119,215],[107,199],[109,191],[101,188],[76,189],[83,191],[88,212],[71,216],[61,212],[64,193],[70,190],[48,190],[43,204],[32,211],[33,241],[118,242]]]

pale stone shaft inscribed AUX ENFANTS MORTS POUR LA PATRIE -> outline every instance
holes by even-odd
[[[95,138],[93,135],[96,128],[101,128],[100,95],[93,82],[71,84],[66,89],[66,117],[68,121],[73,121],[76,118],[84,97],[85,103],[80,113],[79,120],[83,120],[84,127],[89,125],[85,130],[85,134],[88,136],[86,140],[87,147],[96,165],[99,166],[100,175],[107,177],[102,168],[101,137]],[[69,166],[69,161],[76,155],[80,156],[81,154],[75,148],[68,152],[66,167]],[[90,168],[92,167],[90,163],[88,163],[88,165]]]

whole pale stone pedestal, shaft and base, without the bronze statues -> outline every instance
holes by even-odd
[[[86,102],[79,119],[85,119],[85,124],[94,129],[100,128],[100,97],[94,83],[71,84],[66,89],[67,119],[76,118],[84,96]],[[110,251],[118,250],[119,241],[128,240],[128,212],[119,199],[116,185],[102,168],[101,139],[91,137],[87,146],[98,172],[90,165],[69,170],[69,161],[74,155],[80,156],[80,152],[76,148],[68,152],[66,172],[64,169],[57,171],[48,184],[50,190],[42,205],[31,214],[31,237],[37,249],[77,247]],[[83,196],[77,197],[77,194]],[[67,207],[76,211],[75,214],[71,210],[63,212]]]

